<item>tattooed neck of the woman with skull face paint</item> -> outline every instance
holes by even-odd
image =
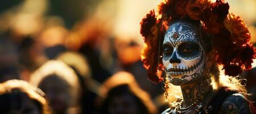
[[[200,79],[196,82],[181,86],[183,96],[182,107],[189,107],[189,105],[196,104],[197,100],[201,101],[212,90],[213,87],[206,79]]]

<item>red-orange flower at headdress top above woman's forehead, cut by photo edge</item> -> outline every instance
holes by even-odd
[[[190,18],[199,20],[201,14],[206,10],[210,9],[212,3],[210,0],[190,0],[186,6],[186,13]]]

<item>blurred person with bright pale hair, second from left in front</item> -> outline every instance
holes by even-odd
[[[75,71],[65,63],[50,60],[36,70],[30,83],[46,93],[54,113],[80,113],[80,84]]]

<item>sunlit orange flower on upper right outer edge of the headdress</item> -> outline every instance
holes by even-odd
[[[241,46],[250,41],[250,32],[245,25],[245,22],[234,14],[227,15],[224,25],[231,33],[231,39]]]

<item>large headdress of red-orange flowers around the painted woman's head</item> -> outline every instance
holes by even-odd
[[[140,23],[145,42],[141,60],[148,70],[149,79],[161,82],[163,64],[159,58],[164,32],[170,22],[184,18],[201,21],[201,29],[210,34],[216,60],[224,66],[226,75],[237,76],[250,70],[256,50],[250,42],[245,22],[229,13],[228,3],[224,0],[165,0],[160,3],[157,15],[151,10]]]

